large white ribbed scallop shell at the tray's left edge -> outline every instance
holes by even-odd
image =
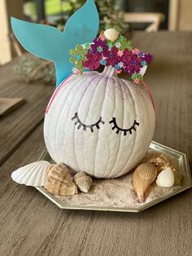
[[[20,167],[11,174],[11,178],[20,184],[33,187],[42,187],[46,183],[46,169],[48,161],[35,161],[27,166]]]

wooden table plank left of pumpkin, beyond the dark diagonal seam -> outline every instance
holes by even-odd
[[[0,117],[0,164],[42,121],[50,95],[55,90],[55,86],[39,82],[28,85],[20,81],[13,72],[16,63],[18,60],[0,68],[0,97],[24,98],[26,103],[7,116]]]

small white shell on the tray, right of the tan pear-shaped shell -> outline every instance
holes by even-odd
[[[156,179],[156,184],[160,187],[170,188],[174,184],[174,173],[170,167],[162,170]]]

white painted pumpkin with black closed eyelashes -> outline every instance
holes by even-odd
[[[97,178],[116,178],[146,154],[155,111],[142,86],[120,79],[114,68],[72,75],[50,99],[44,123],[55,162]]]

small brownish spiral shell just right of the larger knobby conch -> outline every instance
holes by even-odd
[[[79,188],[79,190],[85,193],[89,192],[89,188],[93,183],[90,176],[85,174],[84,171],[80,171],[79,173],[75,174],[73,180],[76,183],[76,186]]]

